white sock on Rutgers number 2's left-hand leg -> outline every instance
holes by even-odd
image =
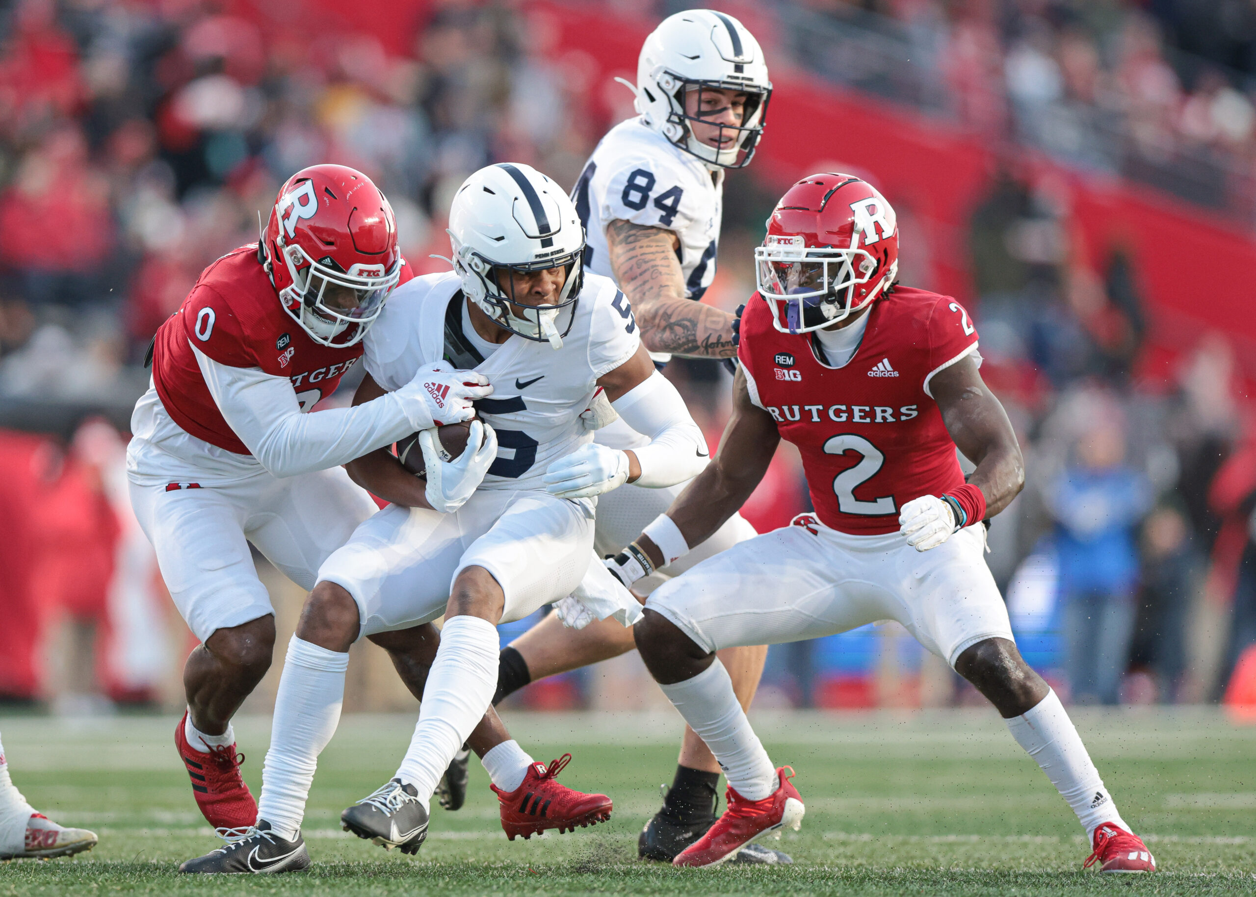
[[[776,769],[750,727],[718,657],[693,678],[659,687],[706,741],[737,794],[746,800],[762,800],[777,789]]]

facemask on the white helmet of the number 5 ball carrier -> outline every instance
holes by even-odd
[[[497,325],[511,333],[538,343],[549,343],[553,348],[563,348],[565,337],[575,320],[575,303],[580,295],[584,280],[584,245],[551,259],[540,261],[510,264],[495,261],[470,246],[460,245],[453,234],[455,269],[462,279],[462,291]],[[561,268],[566,279],[559,290],[556,303],[533,303],[515,295],[515,274],[531,274],[551,268]],[[515,314],[520,310],[522,317]],[[566,318],[565,325],[561,319]]]

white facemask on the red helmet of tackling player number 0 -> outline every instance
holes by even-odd
[[[344,348],[360,342],[401,279],[399,260],[392,270],[355,264],[344,271],[330,256],[311,259],[298,244],[276,249],[293,280],[279,294],[284,309],[323,345]]]

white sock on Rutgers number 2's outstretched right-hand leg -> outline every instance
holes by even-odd
[[[1004,722],[1016,744],[1037,761],[1055,790],[1069,802],[1086,829],[1086,838],[1093,838],[1095,829],[1105,822],[1130,830],[1117,812],[1117,804],[1104,788],[1099,770],[1090,763],[1090,754],[1054,690],[1029,712]]]

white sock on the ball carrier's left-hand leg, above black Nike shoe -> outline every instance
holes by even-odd
[[[340,721],[348,666],[348,653],[296,636],[288,643],[257,800],[257,818],[288,840],[301,830],[318,755]]]

